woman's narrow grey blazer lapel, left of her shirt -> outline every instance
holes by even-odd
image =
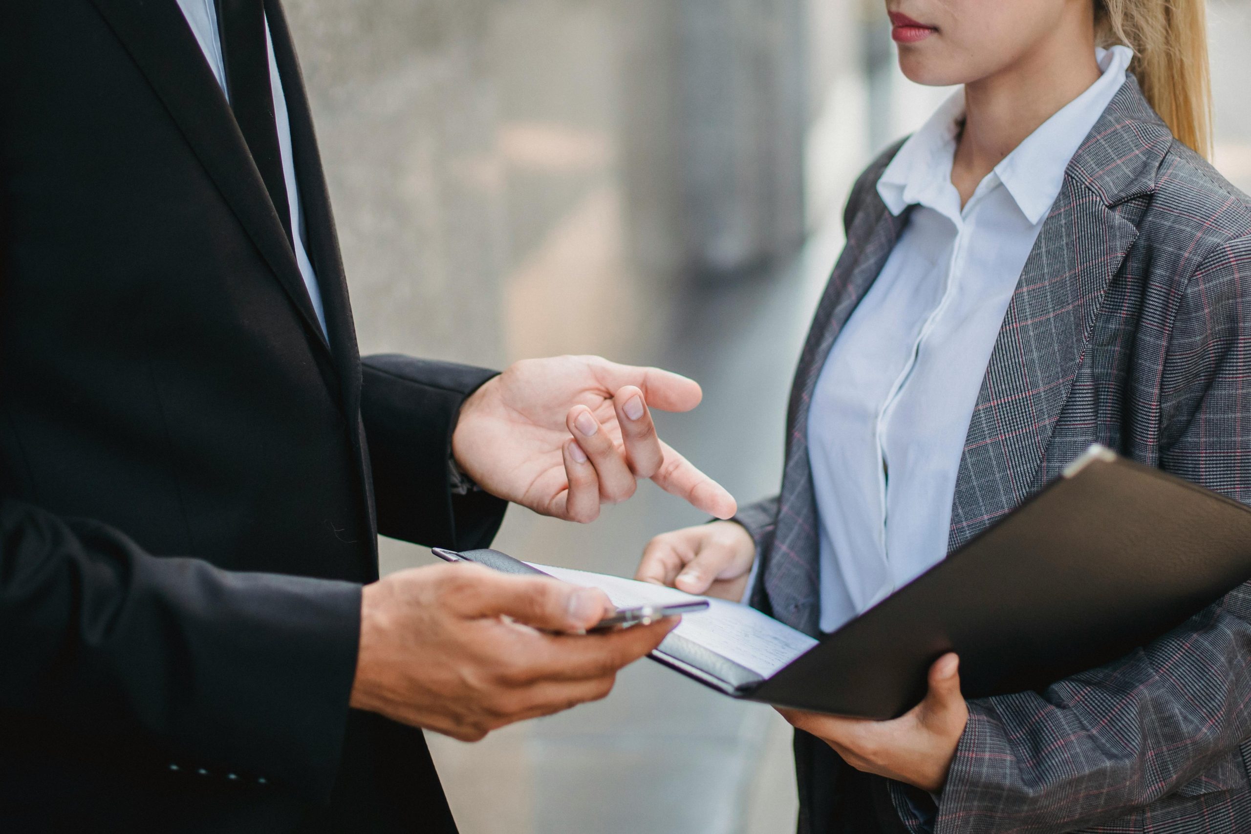
[[[817,305],[799,355],[791,389],[786,469],[778,499],[778,518],[786,521],[778,524],[764,568],[764,588],[773,616],[812,635],[818,631],[821,606],[817,503],[808,465],[808,406],[834,339],[882,271],[907,223],[907,211],[892,215],[876,191],[869,199],[873,204],[859,213],[848,231],[847,246]]]

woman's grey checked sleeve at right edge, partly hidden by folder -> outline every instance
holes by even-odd
[[[1251,239],[1203,260],[1171,325],[1160,466],[1251,503]],[[1170,794],[1233,788],[1251,739],[1247,693],[1251,583],[1116,663],[1042,694],[971,703],[934,826],[1058,834]]]

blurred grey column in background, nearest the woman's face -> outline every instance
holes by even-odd
[[[638,264],[717,278],[793,254],[804,229],[804,0],[619,5]]]

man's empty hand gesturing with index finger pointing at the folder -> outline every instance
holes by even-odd
[[[624,501],[651,478],[717,518],[734,499],[656,435],[648,406],[689,411],[694,380],[599,356],[514,364],[460,409],[452,450],[492,495],[543,515],[593,521],[600,504]]]

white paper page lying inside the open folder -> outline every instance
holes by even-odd
[[[683,616],[674,634],[681,634],[741,666],[747,666],[762,678],[772,676],[782,666],[817,645],[817,641],[803,631],[766,616],[749,605],[727,603],[711,596],[694,596],[676,588],[662,588],[608,574],[538,564],[530,566],[574,585],[598,588],[608,594],[608,599],[613,600],[617,608],[707,599],[708,610]],[[664,650],[663,643],[661,650]]]

